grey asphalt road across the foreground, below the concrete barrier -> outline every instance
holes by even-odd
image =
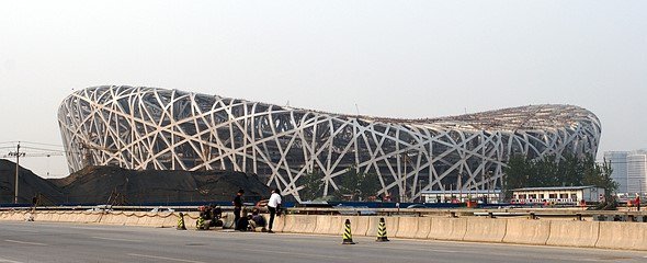
[[[0,222],[0,263],[647,262],[647,252],[232,231]]]

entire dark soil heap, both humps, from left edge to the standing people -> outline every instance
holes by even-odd
[[[2,193],[11,195],[0,194],[0,202],[12,203],[15,163],[2,161],[0,187]],[[32,197],[39,193],[42,205],[173,205],[186,202],[228,204],[239,188],[245,190],[246,202],[270,195],[270,188],[257,175],[219,170],[135,171],[118,167],[87,167],[67,178],[45,180],[22,169],[19,186],[20,203],[31,203]]]

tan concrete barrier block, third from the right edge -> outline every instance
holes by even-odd
[[[546,244],[550,220],[507,219],[504,243]]]

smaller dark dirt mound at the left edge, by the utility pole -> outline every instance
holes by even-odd
[[[13,204],[15,191],[15,162],[0,159],[0,204]],[[18,203],[32,204],[41,195],[43,204],[59,204],[63,192],[52,182],[34,174],[31,170],[19,169]]]

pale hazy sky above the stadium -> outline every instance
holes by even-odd
[[[402,118],[572,104],[600,118],[599,157],[647,148],[646,12],[647,1],[0,1],[0,158],[12,141],[61,149],[60,102],[104,84]],[[68,174],[64,157],[21,164]]]

